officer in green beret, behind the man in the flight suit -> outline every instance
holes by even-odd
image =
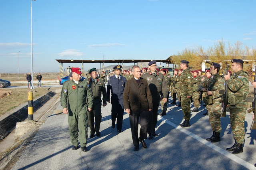
[[[90,127],[90,138],[94,137],[94,133],[96,132],[97,136],[100,136],[100,123],[101,123],[101,102],[103,100],[102,106],[105,107],[107,105],[107,96],[106,96],[106,88],[103,79],[100,79],[96,73],[96,68],[90,69],[88,72],[90,74],[90,78],[86,79],[89,87],[92,89],[93,94],[93,105],[92,111],[88,111],[88,124]],[[102,100],[101,100],[101,95]],[[94,117],[95,117],[95,127],[94,127]]]

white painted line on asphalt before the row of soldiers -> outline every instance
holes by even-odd
[[[216,146],[215,144],[212,144],[211,142],[208,142],[207,140],[197,136],[196,134],[194,134],[194,133],[192,133],[192,132],[190,132],[190,131],[188,131],[188,130],[186,130],[186,129],[184,129],[184,128],[182,128],[182,127],[180,127],[180,126],[178,126],[178,125],[176,125],[176,124],[174,124],[170,121],[168,121],[167,119],[164,119],[161,116],[158,116],[158,119],[162,120],[163,122],[168,123],[169,125],[171,125],[172,127],[176,128],[176,129],[188,134],[192,138],[198,140],[199,142],[205,144],[206,146],[209,146],[213,150],[216,150],[220,154],[226,156],[227,158],[230,158],[231,160],[235,161],[236,163],[238,163],[238,164],[240,164],[240,165],[242,165],[242,166],[244,166],[248,169],[255,169],[254,165],[250,164],[249,162],[247,162],[247,161],[235,156],[234,154]]]

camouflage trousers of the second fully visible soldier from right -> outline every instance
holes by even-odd
[[[208,114],[209,114],[209,122],[212,127],[212,131],[221,132],[221,123],[220,123],[220,115],[221,115],[221,104],[219,102],[220,98],[214,99],[212,105],[208,105]],[[206,106],[207,107],[207,106]]]

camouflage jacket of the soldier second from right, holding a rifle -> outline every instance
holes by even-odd
[[[225,89],[224,80],[222,79],[221,75],[219,75],[218,73],[209,77],[208,80],[203,81],[201,85],[207,90],[212,91],[213,99],[222,97],[222,94],[220,94],[220,90]]]

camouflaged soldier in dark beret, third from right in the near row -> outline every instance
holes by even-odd
[[[193,95],[193,83],[192,75],[188,69],[188,61],[181,60],[180,67],[183,70],[181,75],[174,77],[174,81],[180,82],[180,96],[181,96],[181,107],[184,114],[184,122],[180,124],[181,127],[190,127],[190,101]]]

